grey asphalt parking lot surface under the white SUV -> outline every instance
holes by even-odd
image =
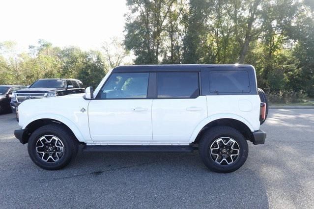
[[[79,153],[46,171],[0,115],[0,208],[313,208],[314,109],[270,109],[264,145],[239,170],[208,170],[197,151]]]

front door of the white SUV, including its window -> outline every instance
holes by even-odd
[[[88,105],[94,142],[152,141],[151,106],[147,99],[149,73],[114,73]]]

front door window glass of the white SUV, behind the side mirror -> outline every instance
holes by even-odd
[[[114,73],[101,90],[101,99],[147,98],[148,73]]]

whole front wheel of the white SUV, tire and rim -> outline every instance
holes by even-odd
[[[43,126],[29,137],[29,157],[39,167],[58,170],[66,166],[78,152],[73,134],[58,124]]]

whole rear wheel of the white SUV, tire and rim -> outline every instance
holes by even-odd
[[[239,169],[248,157],[248,150],[244,136],[228,126],[214,127],[200,138],[200,157],[215,172],[229,173]]]

